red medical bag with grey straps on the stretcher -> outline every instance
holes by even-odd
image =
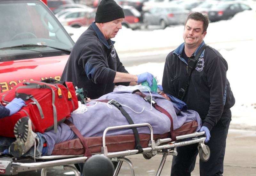
[[[13,132],[15,123],[26,116],[32,121],[33,131],[43,133],[54,128],[57,132],[57,125],[78,108],[72,82],[49,80],[24,81],[14,86],[12,90],[0,94],[2,105],[8,104],[15,97],[22,98],[26,102],[26,106],[23,106],[19,112],[0,119],[0,136],[15,137]]]

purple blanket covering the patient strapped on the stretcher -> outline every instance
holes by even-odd
[[[143,93],[150,95],[147,92]],[[159,106],[163,107],[171,114],[174,130],[189,121],[197,121],[199,124],[197,130],[200,129],[201,119],[197,112],[188,110],[186,113],[181,112],[177,115],[175,113],[175,108],[177,107],[174,107],[171,101],[157,93],[152,93],[152,96]],[[137,94],[132,94],[129,91],[111,92],[103,95],[99,99],[116,100],[123,106],[124,110],[130,115],[135,124],[149,123],[153,127],[154,134],[164,134],[170,131],[170,119]],[[124,115],[114,105],[92,100],[86,104],[84,110],[86,110],[86,112],[83,114],[72,114],[72,117],[69,119],[84,137],[102,136],[103,131],[107,127],[129,124]],[[178,112],[177,109],[176,112]],[[148,127],[137,129],[140,134],[150,133]],[[111,130],[107,133],[107,136],[122,134],[133,134],[133,132],[132,129]],[[65,123],[61,123],[58,126],[57,133],[51,130],[45,132],[43,135],[47,141],[48,155],[51,155],[55,143],[77,137]]]

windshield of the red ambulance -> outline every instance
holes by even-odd
[[[55,48],[71,51],[74,41],[41,3],[33,0],[29,3],[0,1],[0,48],[5,48],[0,49],[0,56],[59,51]],[[35,48],[31,45],[30,48],[28,44],[49,47]]]

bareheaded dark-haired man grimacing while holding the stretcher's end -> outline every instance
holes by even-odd
[[[163,90],[179,97],[179,90],[188,79],[188,60],[204,45],[208,17],[199,12],[189,14],[183,31],[184,43],[166,57]],[[226,72],[228,64],[220,53],[206,47],[192,71],[184,102],[188,109],[198,112],[202,119],[199,131],[205,131],[205,143],[210,148],[207,162],[200,160],[200,176],[217,176],[223,173],[226,138],[231,121],[230,108],[235,98],[230,89]],[[211,138],[210,138],[211,137]],[[178,155],[172,159],[171,176],[188,176],[194,170],[198,144],[177,147]]]

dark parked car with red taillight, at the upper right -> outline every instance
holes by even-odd
[[[212,7],[208,12],[208,17],[212,22],[227,20],[233,18],[236,13],[244,10],[252,9],[249,5],[240,2],[222,2]]]

